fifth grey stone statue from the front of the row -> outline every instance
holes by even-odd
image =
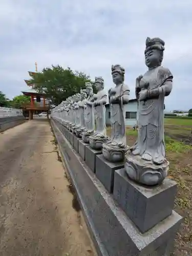
[[[79,138],[82,137],[82,132],[86,130],[85,123],[84,123],[84,104],[86,103],[87,93],[86,89],[80,91],[81,101],[79,102],[79,116],[80,116],[80,127],[77,130],[77,136]]]

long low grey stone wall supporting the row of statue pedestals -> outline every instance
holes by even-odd
[[[114,194],[115,188],[114,191],[111,190],[111,192],[109,192],[97,177],[97,170],[94,173],[94,169],[89,168],[86,161],[83,160],[84,154],[80,156],[78,153],[79,147],[76,145],[79,144],[80,140],[77,140],[77,137],[62,125],[62,121],[51,118],[51,125],[60,148],[61,158],[76,189],[78,200],[98,255],[169,256],[170,251],[173,250],[175,234],[182,218],[175,211],[171,211],[169,216],[164,220],[160,221],[155,226],[154,224],[151,225],[152,223],[149,222],[151,220],[148,220],[148,217],[153,215],[154,208],[156,208],[155,204],[159,205],[158,207],[163,205],[161,202],[162,199],[159,196],[161,193],[160,189],[159,193],[158,191],[156,194],[147,192],[148,196],[144,197],[144,193],[146,194],[145,189],[142,191],[139,190],[139,186],[130,181],[132,191],[130,190],[131,198],[129,198],[129,200],[132,200],[133,203],[129,205],[129,211],[136,212],[138,209],[138,218],[142,218],[142,223],[146,222],[146,224],[150,225],[149,230],[145,231],[144,227],[144,231],[142,232],[135,224],[136,219],[132,221],[126,215],[126,209],[123,210],[120,204],[117,203],[119,193],[121,193],[120,190],[116,191],[116,193],[118,192],[118,196]],[[87,148],[89,145],[85,147]],[[96,156],[96,161],[99,158],[101,158],[100,154]],[[106,169],[102,169],[102,172],[104,174]],[[120,179],[119,182],[121,182],[119,170],[117,170],[117,172],[115,171],[115,175]],[[116,183],[117,181],[118,180],[116,180]],[[168,179],[166,182],[169,186],[165,184],[166,189],[161,188],[164,194],[167,193],[166,191],[170,194],[169,199],[166,199],[166,195],[165,197],[163,196],[165,205],[166,200],[173,201],[173,195],[175,193],[175,184]],[[118,186],[117,183],[116,187]],[[139,205],[136,205],[137,201],[134,198],[134,193],[136,192],[140,197],[137,199],[141,200],[141,204]],[[154,200],[154,197],[157,197],[157,201],[160,201],[157,202]],[[147,212],[148,216],[146,216],[146,209],[142,207],[143,198],[145,200],[143,203],[145,205],[148,204],[146,207],[154,205],[154,207],[150,208],[151,210]],[[126,199],[128,200],[128,198]],[[148,201],[148,199],[150,199],[150,201]],[[160,212],[160,214],[162,214],[162,212]],[[157,222],[159,218],[161,218],[161,216],[156,215],[153,221]],[[139,220],[140,219],[137,219],[137,221]],[[151,226],[153,227],[151,228]]]

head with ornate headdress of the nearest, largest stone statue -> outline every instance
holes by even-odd
[[[145,65],[148,68],[161,66],[165,42],[158,37],[147,37],[145,44]]]

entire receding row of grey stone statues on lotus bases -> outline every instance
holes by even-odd
[[[164,41],[160,38],[146,39],[144,75],[136,79],[138,99],[138,139],[135,145],[127,147],[124,122],[124,105],[129,103],[130,90],[124,84],[124,69],[112,66],[115,87],[109,90],[111,112],[111,137],[106,136],[104,80],[96,77],[93,94],[92,84],[86,83],[81,90],[63,101],[53,111],[55,118],[81,137],[95,150],[101,150],[106,160],[125,160],[127,175],[144,185],[156,185],[167,175],[168,161],[164,145],[164,97],[172,91],[173,75],[161,66]]]

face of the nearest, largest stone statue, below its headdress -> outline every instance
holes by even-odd
[[[148,68],[157,67],[160,65],[161,51],[157,49],[148,50],[145,53],[145,65]]]

